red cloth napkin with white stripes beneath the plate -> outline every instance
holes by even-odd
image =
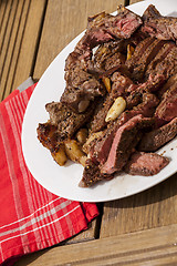
[[[35,84],[0,103],[0,264],[55,245],[87,228],[95,204],[43,188],[29,172],[21,149],[24,111]]]

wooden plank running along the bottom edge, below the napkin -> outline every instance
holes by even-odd
[[[177,265],[177,225],[54,247],[21,258],[15,266]]]

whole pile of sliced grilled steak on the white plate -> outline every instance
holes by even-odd
[[[80,186],[111,180],[123,170],[154,175],[168,164],[168,158],[145,151],[156,151],[177,134],[176,41],[177,18],[163,17],[153,4],[142,18],[126,8],[116,16],[88,18],[65,61],[60,102],[45,105],[50,120],[37,129],[53,155],[67,139],[77,137],[81,126],[87,127],[88,139],[79,145],[87,154]],[[106,122],[118,96],[126,104],[117,105]]]

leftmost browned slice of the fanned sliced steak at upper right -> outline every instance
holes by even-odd
[[[131,59],[126,60],[125,64],[127,65],[128,70],[133,72],[134,68],[138,65],[139,60],[142,59],[143,54],[145,53],[146,49],[154,42],[154,38],[146,38],[142,42],[137,44],[135,51]]]

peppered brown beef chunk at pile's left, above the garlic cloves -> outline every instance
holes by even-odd
[[[58,142],[71,137],[77,129],[87,122],[94,111],[94,103],[84,114],[75,114],[61,102],[51,102],[45,105],[52,125],[58,127]]]

